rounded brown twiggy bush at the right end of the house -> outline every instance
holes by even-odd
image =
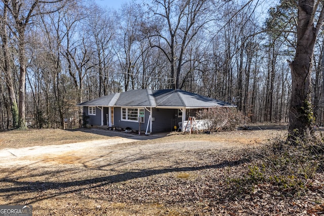
[[[247,116],[232,107],[200,110],[197,116],[209,120],[210,131],[233,131],[238,124],[249,121]]]

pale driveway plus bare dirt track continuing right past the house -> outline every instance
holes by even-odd
[[[6,148],[0,150],[0,167],[52,166],[53,164],[79,164],[92,166],[109,161],[136,160],[136,158],[174,151],[195,151],[204,149],[222,149],[256,145],[257,137],[221,138],[211,140],[169,139],[167,142],[153,144],[137,142],[153,140],[166,134],[150,137],[136,136],[125,133],[112,133],[94,129],[94,133],[111,136],[109,139],[77,142],[63,145],[31,146],[25,148]],[[120,137],[116,136],[119,135]],[[172,136],[182,136],[176,134]],[[243,134],[238,136],[243,136]],[[246,141],[248,142],[242,142]],[[250,141],[250,143],[249,143]]]

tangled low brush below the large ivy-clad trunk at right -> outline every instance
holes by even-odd
[[[229,187],[238,196],[253,193],[254,186],[259,184],[271,185],[287,196],[301,195],[316,188],[313,178],[316,172],[322,172],[323,152],[321,140],[292,145],[284,139],[276,139],[250,155],[251,165],[246,175],[229,179]]]

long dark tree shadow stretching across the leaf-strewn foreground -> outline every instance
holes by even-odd
[[[232,167],[238,166],[242,163],[248,162],[247,159],[238,159],[234,161],[222,161],[217,164],[210,164],[210,165],[201,165],[201,166],[183,166],[183,167],[172,167],[172,168],[150,168],[150,169],[142,169],[138,171],[125,171],[123,173],[108,175],[104,177],[95,177],[91,179],[84,179],[84,180],[76,180],[76,181],[69,181],[69,182],[31,182],[31,181],[19,181],[19,178],[15,176],[15,178],[3,178],[0,179],[0,182],[7,183],[7,187],[3,187],[0,189],[0,197],[10,197],[10,196],[19,196],[21,194],[28,194],[28,193],[39,193],[39,195],[33,197],[24,197],[20,198],[19,200],[15,200],[6,204],[17,204],[17,203],[24,203],[24,204],[33,204],[40,200],[46,200],[53,197],[80,192],[85,189],[93,189],[113,183],[120,183],[126,182],[129,180],[139,179],[139,178],[146,178],[150,176],[160,175],[160,174],[167,174],[172,172],[185,172],[185,171],[196,171],[196,170],[204,170],[204,169],[219,169],[225,167]],[[23,169],[23,168],[22,168]],[[57,173],[55,173],[57,172]],[[59,174],[59,172],[64,172],[64,170],[57,170],[51,173],[50,175]],[[46,176],[46,173],[39,173],[39,176]],[[24,176],[26,178],[26,176]],[[30,177],[32,178],[32,176]],[[8,186],[10,185],[10,186]],[[51,191],[50,191],[51,190]],[[57,191],[55,191],[57,190]],[[49,192],[46,194],[44,192]],[[55,191],[53,193],[53,191]]]

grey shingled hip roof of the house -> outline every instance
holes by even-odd
[[[235,107],[213,98],[204,97],[183,90],[131,90],[114,93],[78,104],[79,106],[127,106],[127,107],[165,107],[165,108],[208,108]]]

